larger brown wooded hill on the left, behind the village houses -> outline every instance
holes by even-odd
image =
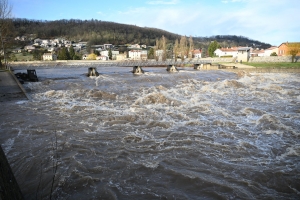
[[[57,20],[37,21],[28,19],[13,20],[19,36],[35,34],[38,38],[65,37],[74,41],[89,41],[91,44],[154,45],[157,38],[164,35],[173,41],[179,35],[155,28],[142,28],[135,25],[119,24],[100,20]]]

